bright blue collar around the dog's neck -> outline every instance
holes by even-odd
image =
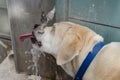
[[[77,74],[75,75],[74,80],[82,80],[86,70],[88,69],[90,63],[93,61],[94,57],[97,55],[97,53],[100,51],[100,49],[104,46],[103,42],[97,43],[93,50],[88,53],[87,57],[83,61],[82,65],[80,66]]]

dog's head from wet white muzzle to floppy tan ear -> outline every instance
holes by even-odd
[[[57,48],[55,54],[58,65],[65,64],[78,54],[79,51],[77,51],[77,47],[80,45],[78,43],[80,41],[78,36],[69,31],[71,29],[70,24],[55,23],[50,27],[41,27],[43,26],[38,26],[36,29],[34,29],[34,36],[36,37],[37,41],[42,42],[42,46],[45,46],[44,42],[51,41],[51,43],[46,42],[46,44],[50,45],[50,47],[53,48],[52,50]]]

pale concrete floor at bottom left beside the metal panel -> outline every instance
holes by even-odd
[[[0,80],[41,80],[34,75],[18,74],[15,70],[13,59],[9,55],[0,64]]]

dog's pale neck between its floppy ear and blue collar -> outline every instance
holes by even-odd
[[[83,49],[80,54],[76,56],[71,62],[62,65],[61,67],[72,77],[75,76],[82,62],[88,55],[88,53],[93,49],[93,47],[100,41],[103,41],[103,38],[99,35],[94,36],[94,39],[91,39],[86,44],[83,44]],[[84,42],[83,42],[84,43]]]

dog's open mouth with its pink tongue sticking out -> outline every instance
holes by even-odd
[[[19,37],[20,41],[22,41],[22,42],[25,39],[27,39],[27,38],[30,38],[32,44],[38,45],[39,47],[42,46],[41,42],[37,41],[37,39],[36,39],[36,37],[35,37],[35,35],[34,35],[33,32],[32,33],[27,33],[27,34],[20,35],[20,37]]]

